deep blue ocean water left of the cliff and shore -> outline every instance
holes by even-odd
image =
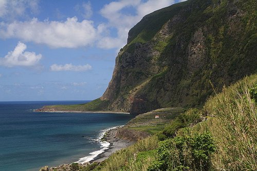
[[[104,129],[124,125],[133,115],[48,113],[33,109],[88,101],[0,102],[0,170],[39,170],[90,156]]]

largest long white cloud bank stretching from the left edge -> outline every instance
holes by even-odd
[[[0,37],[19,38],[24,41],[43,43],[53,48],[76,48],[89,46],[97,37],[93,22],[77,17],[67,18],[65,22],[38,21],[33,18],[26,22],[0,23]]]

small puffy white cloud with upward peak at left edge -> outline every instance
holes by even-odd
[[[27,46],[19,42],[13,51],[8,52],[4,58],[0,58],[0,65],[13,66],[34,66],[41,60],[41,54],[25,51]]]

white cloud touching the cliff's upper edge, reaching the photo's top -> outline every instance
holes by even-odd
[[[149,0],[142,2],[140,0],[134,1],[119,1],[111,2],[105,5],[100,13],[103,17],[107,18],[108,25],[106,28],[114,27],[118,31],[117,37],[113,36],[104,36],[98,42],[100,48],[120,48],[126,44],[127,33],[128,31],[136,25],[141,18],[153,11],[156,11],[160,8],[164,8],[174,4],[172,0]],[[132,7],[135,9],[136,14],[124,14],[122,13],[123,9]]]

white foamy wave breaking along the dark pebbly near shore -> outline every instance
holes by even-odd
[[[93,140],[95,142],[98,142],[101,145],[100,146],[101,149],[89,153],[90,156],[80,158],[79,161],[77,161],[76,163],[83,164],[83,163],[89,162],[91,160],[94,160],[98,155],[104,153],[104,151],[107,150],[110,147],[110,143],[108,143],[106,141],[101,141],[105,132],[107,132],[108,130],[111,130],[111,129],[115,129],[117,127],[121,127],[121,126],[124,126],[124,125],[114,126],[114,127],[111,127],[111,128],[100,130],[100,134],[99,134],[98,138],[97,139],[91,139],[91,140]]]

